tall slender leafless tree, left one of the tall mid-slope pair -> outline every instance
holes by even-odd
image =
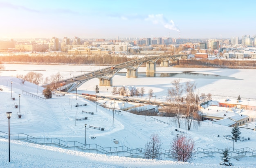
[[[171,105],[175,110],[178,126],[180,128],[180,114],[181,114],[181,106],[182,106],[181,98],[182,98],[184,88],[183,88],[183,85],[181,85],[180,83],[180,79],[174,80],[172,84],[173,84],[173,87],[171,89],[168,89],[167,101],[171,103]]]

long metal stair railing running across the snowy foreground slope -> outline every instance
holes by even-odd
[[[8,133],[0,131],[0,138],[8,139]],[[89,153],[97,153],[97,154],[106,154],[106,155],[114,155],[114,156],[132,156],[132,155],[141,155],[144,157],[145,149],[143,148],[136,148],[131,149],[127,146],[119,146],[119,147],[102,147],[97,144],[83,144],[78,141],[63,141],[58,138],[35,138],[27,134],[10,134],[10,139],[18,140],[18,141],[25,141],[29,143],[35,143],[39,145],[46,145],[46,146],[54,146],[58,148],[65,148],[69,150],[76,150],[82,152],[89,152]],[[252,150],[251,148],[245,147],[240,149],[233,148],[197,148],[196,151],[193,153],[193,157],[202,157],[206,155],[219,155],[221,156],[225,149],[229,150],[229,156],[236,156],[236,155],[256,155],[256,150]],[[165,150],[160,148],[160,157],[170,157],[171,150]]]

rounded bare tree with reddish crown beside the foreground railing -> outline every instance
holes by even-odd
[[[178,135],[173,139],[170,144],[171,155],[176,161],[190,161],[193,157],[193,150],[195,148],[195,142],[191,137],[185,137],[184,135]]]

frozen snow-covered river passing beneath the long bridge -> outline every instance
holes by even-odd
[[[29,64],[4,64],[5,69],[1,71],[1,76],[16,76],[17,74],[27,74],[30,71],[40,72],[43,77],[50,77],[52,74],[60,72],[64,78],[70,78],[88,72],[94,72],[103,68],[102,66],[90,65],[29,65]],[[195,82],[200,93],[211,93],[222,96],[240,95],[245,98],[254,98],[256,79],[253,77],[255,69],[213,69],[213,68],[174,68],[156,67],[155,77],[147,77],[145,67],[139,67],[138,78],[126,78],[126,69],[122,69],[120,74],[113,77],[113,86],[135,85],[144,87],[147,90],[153,89],[155,94],[166,96],[171,82],[181,78],[182,82]],[[161,76],[162,75],[162,76]],[[79,90],[93,91],[99,85],[99,79],[94,78],[84,83]],[[100,92],[110,92],[112,87],[99,87]]]

